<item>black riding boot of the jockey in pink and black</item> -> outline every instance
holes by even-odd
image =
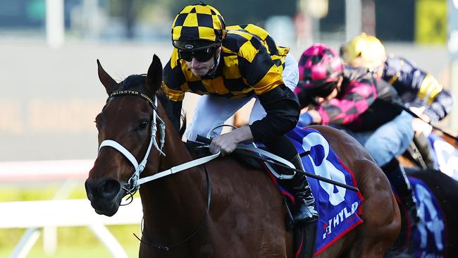
[[[411,225],[415,226],[420,219],[416,209],[417,202],[404,168],[402,168],[397,159],[392,159],[388,164],[383,166],[382,169],[388,177],[388,180],[390,180],[393,188],[395,188],[400,199],[406,205]]]

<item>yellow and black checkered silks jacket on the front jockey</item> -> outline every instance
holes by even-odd
[[[266,30],[256,25],[227,27],[214,75],[196,76],[174,49],[163,70],[163,89],[169,99],[182,101],[185,92],[238,98],[263,94],[283,84],[285,56]]]

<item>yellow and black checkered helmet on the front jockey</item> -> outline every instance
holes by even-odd
[[[185,6],[172,23],[172,44],[178,49],[203,49],[220,44],[225,37],[223,16],[200,2]]]

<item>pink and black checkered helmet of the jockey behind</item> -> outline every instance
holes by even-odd
[[[305,90],[312,96],[326,97],[342,74],[343,63],[337,51],[326,44],[314,44],[299,59],[299,83],[295,93]]]

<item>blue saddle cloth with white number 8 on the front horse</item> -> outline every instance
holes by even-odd
[[[286,135],[292,140],[299,154],[310,152],[302,156],[305,171],[357,187],[352,171],[342,163],[328,141],[317,130],[297,127]],[[359,192],[311,177],[308,177],[308,180],[315,197],[315,208],[319,214],[314,253],[316,255],[363,223],[360,218],[363,197]],[[284,195],[290,196],[285,189],[280,188],[280,190]]]

